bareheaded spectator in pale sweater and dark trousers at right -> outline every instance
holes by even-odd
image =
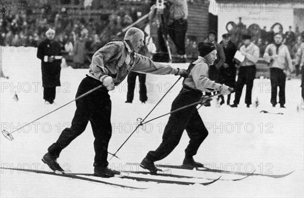
[[[271,83],[271,100],[273,107],[277,104],[278,87],[279,103],[281,108],[285,108],[285,84],[286,74],[292,71],[292,61],[289,50],[283,42],[283,35],[276,33],[275,42],[267,46],[264,59],[270,63],[270,83]]]

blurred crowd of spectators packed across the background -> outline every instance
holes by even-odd
[[[40,3],[42,2],[41,6],[35,8],[32,8],[32,4],[29,1],[16,2],[20,4],[14,12],[12,12],[10,3],[3,3],[1,6],[1,46],[37,47],[37,45],[46,38],[46,30],[52,27],[56,30],[55,39],[60,42],[62,46],[66,62],[74,68],[87,68],[95,51],[112,39],[120,39],[120,36],[123,35],[120,34],[120,32],[145,14],[148,14],[150,6],[155,4],[156,1],[135,1],[134,3],[133,1],[115,0],[105,5],[100,2],[108,1],[90,0],[89,6],[85,7],[82,5],[80,10],[72,10],[69,6],[75,4],[75,2],[77,2],[78,5],[86,4],[87,0],[52,1],[55,4],[57,4],[57,2],[60,3],[60,6],[58,5],[57,7],[50,4],[50,1],[40,1]],[[47,3],[43,4],[44,2]],[[124,4],[119,5],[120,2],[124,2]],[[128,2],[133,2],[134,5],[132,3],[132,5],[125,6],[130,4]],[[206,15],[208,17],[207,25],[206,22],[193,22],[193,15],[198,15],[194,8],[198,7],[201,3],[197,0],[187,2],[189,25],[185,38],[185,49],[187,61],[191,61],[197,58],[197,44],[202,41],[202,39],[208,39],[209,31],[216,33],[218,31],[216,26],[217,18],[214,20],[214,16],[208,13],[208,11]],[[117,6],[120,6],[119,9],[115,9],[118,8]],[[89,12],[92,13],[94,10],[98,11],[98,16],[92,17],[86,14]],[[206,9],[203,11],[206,11]],[[70,14],[72,12],[79,12],[80,14]],[[204,21],[205,19],[201,18],[200,20]],[[141,28],[146,30],[145,25],[148,25],[148,21],[143,21],[144,25],[141,26]],[[196,23],[201,23],[202,27],[200,28],[204,29],[200,37],[195,37],[193,34],[199,34],[199,31],[202,30],[195,30],[198,32],[191,33],[194,31],[192,30],[193,26],[197,26]],[[280,31],[284,34],[283,43],[288,47],[291,58],[294,58],[300,43],[303,42],[301,37],[301,33],[303,32],[299,31],[298,26],[293,27],[293,24],[290,24],[289,29],[286,30],[283,30],[283,26],[279,22],[274,23],[271,27],[263,26],[263,28],[260,28],[257,24],[247,26],[243,23],[242,18],[239,17],[238,23],[230,21],[226,24],[225,29],[232,35],[231,41],[238,46],[238,49],[242,45],[241,36],[250,34],[252,41],[260,49],[261,61],[265,48],[268,44],[273,43],[275,32]],[[270,30],[267,31],[267,28],[270,28]],[[153,28],[151,27],[149,29],[151,31],[147,30],[146,33],[150,34],[149,36],[153,36]],[[221,35],[217,35],[215,39],[217,40],[219,36]],[[147,39],[146,42],[151,41],[151,39]],[[219,42],[220,41],[218,41],[218,43]],[[169,44],[172,46],[172,54],[174,56],[176,50],[170,38]]]

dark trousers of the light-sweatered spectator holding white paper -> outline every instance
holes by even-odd
[[[235,104],[240,103],[244,85],[246,85],[245,103],[248,105],[251,104],[251,93],[252,93],[255,73],[256,73],[255,65],[240,67],[238,81],[236,85],[236,95],[234,100]]]

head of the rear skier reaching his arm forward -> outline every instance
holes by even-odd
[[[144,45],[144,33],[136,27],[131,27],[128,29],[124,39],[125,41],[129,41],[131,43],[134,52],[138,52],[138,50]]]

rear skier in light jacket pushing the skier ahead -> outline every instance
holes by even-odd
[[[65,128],[58,140],[48,148],[43,161],[52,170],[63,171],[57,163],[60,152],[71,141],[82,134],[90,121],[95,137],[94,174],[100,177],[112,177],[119,171],[107,168],[107,148],[112,134],[111,100],[108,91],[118,86],[132,71],[152,74],[187,74],[184,69],[175,69],[162,65],[137,54],[143,44],[144,33],[138,28],[127,30],[124,41],[111,41],[94,55],[87,76],[79,85],[76,97],[103,85],[102,88],[76,101],[71,127]]]

